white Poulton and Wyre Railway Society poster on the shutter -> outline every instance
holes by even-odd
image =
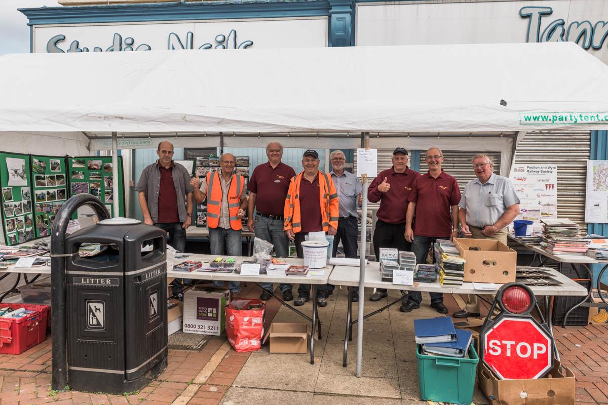
[[[513,165],[510,178],[520,200],[516,219],[539,222],[558,217],[558,166]]]

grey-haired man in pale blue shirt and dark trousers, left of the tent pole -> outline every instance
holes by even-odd
[[[346,156],[342,151],[333,151],[331,159],[331,180],[333,180],[338,192],[340,202],[338,208],[338,229],[334,236],[333,253],[331,257],[336,257],[336,251],[340,241],[344,247],[345,257],[358,257],[357,247],[359,240],[359,224],[357,222],[357,206],[361,206],[361,191],[363,186],[357,176],[344,170]],[[334,286],[327,285],[326,295],[330,296],[334,291]],[[353,301],[359,301],[359,287],[353,287]]]

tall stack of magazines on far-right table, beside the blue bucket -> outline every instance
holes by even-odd
[[[578,223],[567,219],[541,219],[541,246],[551,254],[579,255],[587,253],[589,240],[582,239]]]

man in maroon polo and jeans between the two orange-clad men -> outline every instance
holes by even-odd
[[[281,162],[283,146],[278,142],[266,145],[268,162],[255,167],[251,174],[247,190],[249,191],[249,206],[247,207],[247,228],[260,239],[271,242],[277,257],[289,256],[287,235],[283,231],[283,207],[289,190],[289,180],[295,176],[291,166]],[[255,209],[255,216],[254,216]],[[262,283],[262,301],[270,299],[273,291],[272,283]],[[285,301],[294,299],[291,284],[278,286]]]

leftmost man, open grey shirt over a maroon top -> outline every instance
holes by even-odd
[[[135,191],[143,222],[167,231],[171,246],[183,252],[186,228],[192,219],[190,173],[173,162],[173,145],[163,141],[156,150],[158,160],[143,169]]]

